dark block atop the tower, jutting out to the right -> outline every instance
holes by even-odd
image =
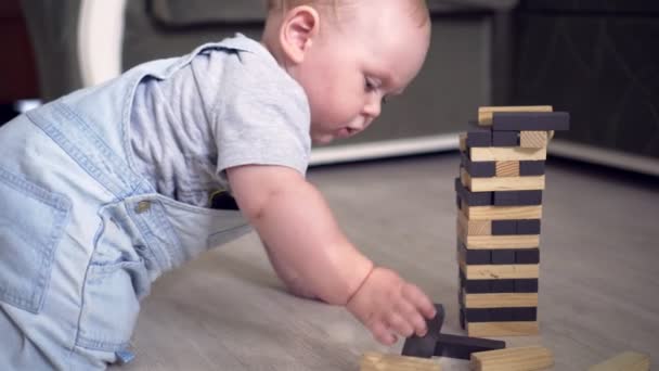
[[[494,131],[569,130],[570,114],[567,112],[495,112],[492,115]]]

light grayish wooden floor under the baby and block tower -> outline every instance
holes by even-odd
[[[321,167],[309,179],[352,241],[447,308],[462,333],[455,263],[456,154]],[[659,182],[550,161],[541,236],[541,335],[555,370],[623,350],[659,356]],[[288,295],[250,234],[158,280],[113,370],[358,370],[376,344],[341,308]],[[437,359],[444,370],[465,361]]]

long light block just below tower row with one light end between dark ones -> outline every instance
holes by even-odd
[[[471,192],[542,191],[545,188],[545,178],[543,175],[505,178],[473,178],[463,168],[461,169],[460,177],[462,184]]]

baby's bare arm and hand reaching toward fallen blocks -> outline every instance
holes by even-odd
[[[384,344],[425,334],[435,307],[395,272],[374,268],[340,231],[320,192],[296,170],[248,165],[227,170],[243,214],[280,270],[324,302],[347,306]],[[275,268],[276,269],[276,268]],[[282,271],[277,271],[282,274]]]

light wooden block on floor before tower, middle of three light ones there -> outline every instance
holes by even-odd
[[[552,350],[542,346],[507,348],[471,354],[475,371],[531,371],[554,366]]]

